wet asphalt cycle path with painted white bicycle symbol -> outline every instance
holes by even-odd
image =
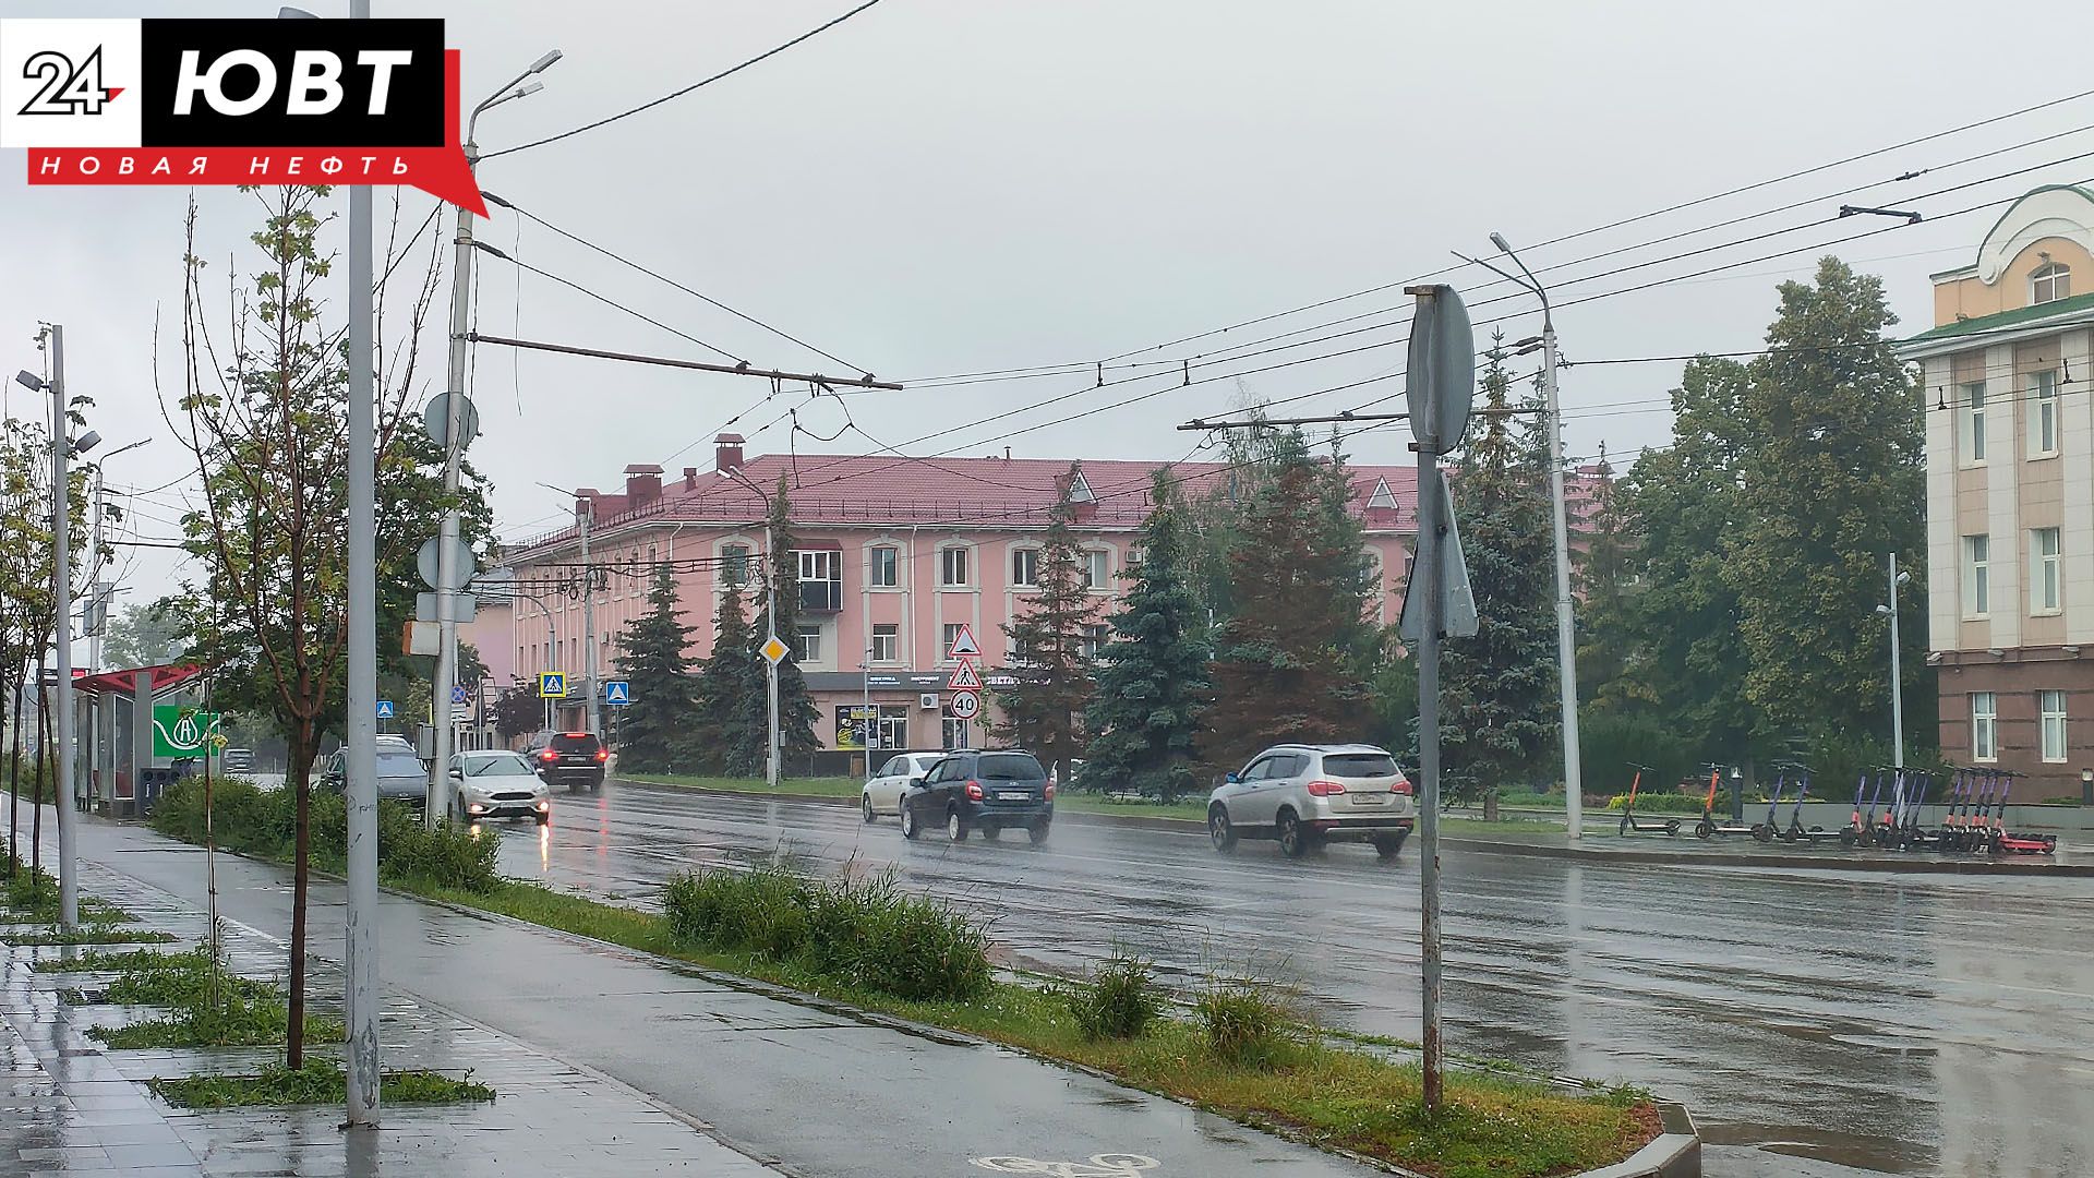
[[[203,899],[203,853],[151,830],[88,820],[80,853],[184,903]],[[276,937],[289,929],[287,870],[222,855],[218,891],[226,918]],[[337,882],[314,880],[312,954],[327,964],[341,950],[341,903]],[[1001,1165],[1051,1174],[1068,1163],[1124,1178],[1369,1174],[1020,1052],[787,1002],[741,979],[513,920],[387,895],[379,945],[379,970],[402,1000],[465,1012],[536,1056],[630,1086],[796,1176],[959,1178]],[[339,994],[335,977],[322,973],[314,994],[325,985]],[[398,1067],[394,1023],[385,1040],[385,1065]],[[507,1094],[498,1077],[490,1082]],[[505,1100],[494,1111],[507,1113]]]

